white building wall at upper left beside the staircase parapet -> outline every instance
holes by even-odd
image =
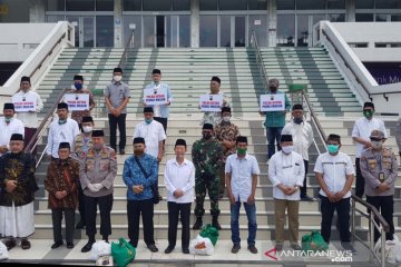
[[[56,23],[0,23],[0,62],[22,62]]]

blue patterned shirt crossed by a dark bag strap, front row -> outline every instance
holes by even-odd
[[[151,186],[158,179],[158,165],[157,159],[148,154],[138,157],[139,162],[144,167],[146,174],[149,176],[145,177],[144,172],[137,165],[134,156],[129,156],[124,162],[123,180],[127,185],[127,199],[128,200],[145,200],[153,198]],[[133,186],[144,186],[144,191],[135,194]]]

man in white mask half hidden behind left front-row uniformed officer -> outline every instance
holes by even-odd
[[[94,126],[95,126],[95,122],[94,122],[92,117],[88,116],[88,117],[82,118],[82,125],[81,125],[82,132],[76,137],[76,139],[74,141],[75,151],[74,151],[74,154],[71,154],[71,156],[78,162],[81,162],[84,160],[85,156],[88,154],[89,148],[92,147],[91,132],[94,130]],[[79,180],[78,180],[78,182],[79,182]],[[79,199],[80,220],[78,221],[76,228],[82,229],[86,226],[86,222],[85,222],[85,196],[84,196],[82,187],[80,187],[80,186],[78,187],[78,199]]]

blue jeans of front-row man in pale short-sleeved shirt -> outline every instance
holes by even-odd
[[[246,204],[244,202],[246,217],[248,219],[248,238],[247,244],[248,246],[255,245],[255,238],[256,238],[256,206],[255,204]],[[238,225],[238,218],[239,218],[239,208],[241,202],[236,201],[234,205],[231,205],[231,227],[232,227],[232,240],[234,244],[241,244],[241,237],[239,237],[239,225]]]

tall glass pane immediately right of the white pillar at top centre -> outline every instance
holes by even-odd
[[[217,16],[200,16],[200,47],[217,47]]]

